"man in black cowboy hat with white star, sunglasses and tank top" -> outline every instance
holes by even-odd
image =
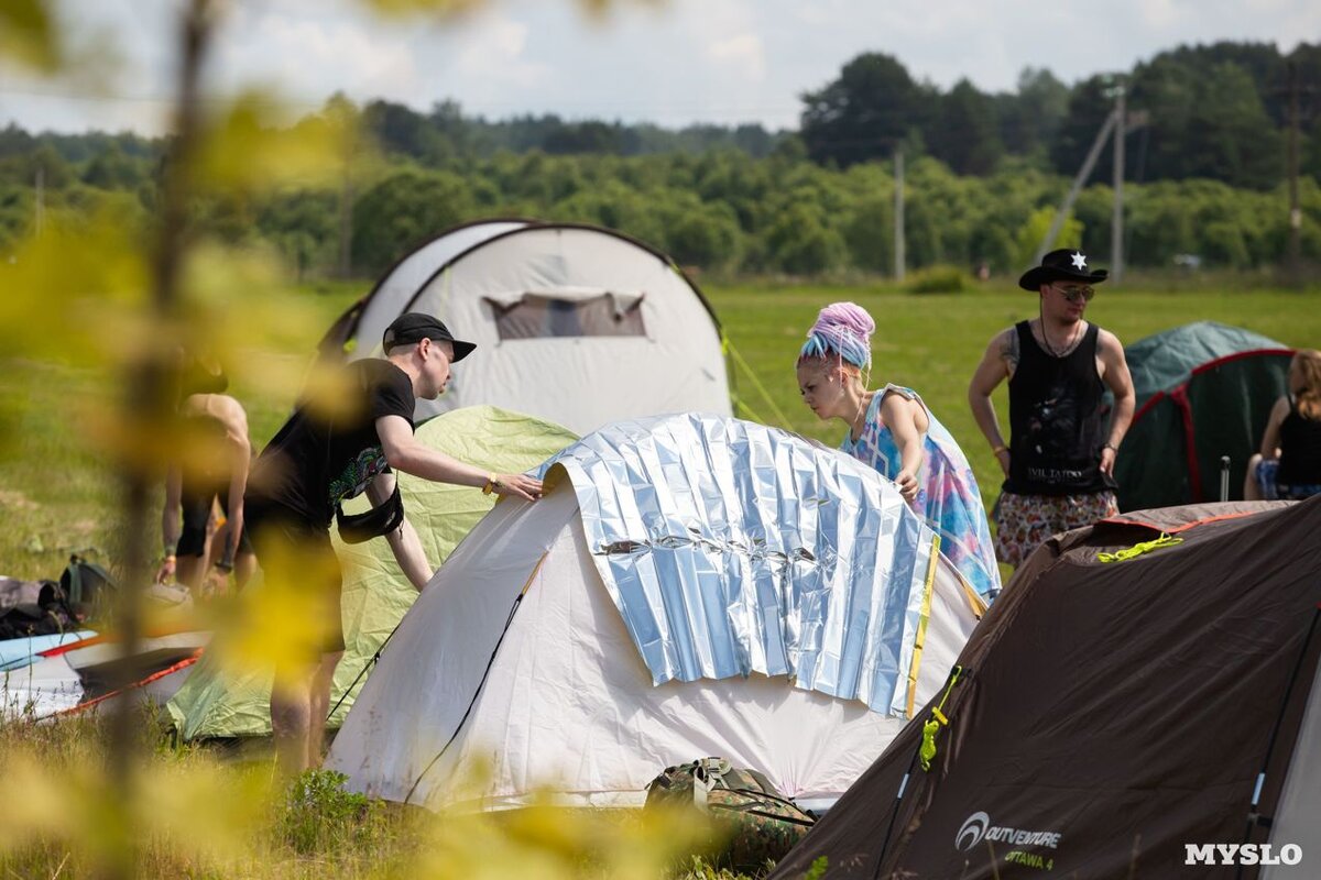
[[[1133,381],[1115,334],[1082,317],[1106,276],[1077,248],[1042,257],[1018,278],[1040,296],[1037,317],[996,334],[968,385],[972,417],[1005,475],[996,555],[1012,566],[1052,534],[1119,512],[1115,454],[1133,418]],[[1005,379],[1008,445],[991,404]],[[1102,402],[1107,388],[1112,412]]]

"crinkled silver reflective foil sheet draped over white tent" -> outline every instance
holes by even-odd
[[[701,414],[609,425],[553,466],[654,683],[757,672],[905,712],[934,533],[880,474]]]

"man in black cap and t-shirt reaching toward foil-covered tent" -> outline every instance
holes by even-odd
[[[392,470],[437,483],[472,486],[495,495],[535,500],[542,483],[522,474],[490,474],[432,450],[413,438],[416,398],[435,400],[449,381],[449,365],[474,348],[454,339],[432,315],[403,314],[382,338],[384,359],[345,368],[333,400],[309,400],[258,458],[244,496],[248,528],[268,595],[306,610],[289,627],[271,693],[271,727],[280,763],[297,773],[321,760],[330,682],[343,652],[339,563],[330,524],[357,542],[384,537],[399,567],[420,591],[431,579],[417,533],[403,517]],[[339,504],[362,492],[373,503],[362,515]]]

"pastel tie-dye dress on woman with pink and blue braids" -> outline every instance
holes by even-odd
[[[913,509],[941,536],[941,553],[950,558],[972,588],[991,599],[1000,592],[1000,567],[991,542],[991,526],[968,459],[922,398],[911,388],[886,385],[876,392],[867,408],[863,435],[853,441],[845,433],[840,449],[871,464],[893,480],[902,467],[900,449],[881,422],[881,400],[902,394],[922,404],[930,426],[922,439],[922,467],[917,472],[918,492]]]

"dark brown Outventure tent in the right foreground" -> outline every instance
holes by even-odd
[[[1318,617],[1321,497],[1058,536],[771,876],[1321,877]]]

